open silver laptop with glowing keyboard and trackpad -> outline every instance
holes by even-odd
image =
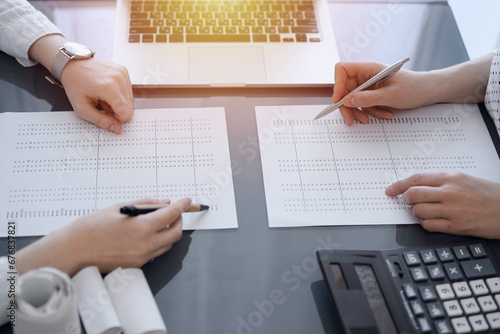
[[[143,87],[324,86],[326,0],[117,0],[113,62]]]

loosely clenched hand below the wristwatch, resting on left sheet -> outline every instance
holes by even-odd
[[[75,113],[119,134],[121,123],[132,118],[134,98],[127,69],[99,59],[70,61],[61,75]],[[104,112],[97,108],[102,107]]]

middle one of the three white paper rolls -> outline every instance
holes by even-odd
[[[118,334],[120,320],[97,267],[86,267],[72,279],[76,305],[87,334]],[[129,301],[133,302],[133,301]]]

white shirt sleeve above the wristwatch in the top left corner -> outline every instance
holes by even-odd
[[[30,46],[39,38],[61,31],[27,0],[0,1],[0,50],[23,66],[36,62],[28,58]]]

